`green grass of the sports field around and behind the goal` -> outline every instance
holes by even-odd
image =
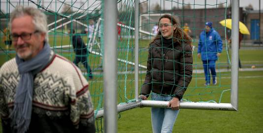
[[[68,45],[69,37],[54,37],[49,39],[50,45]],[[87,38],[84,38],[84,42],[87,42]],[[130,42],[132,43],[132,42]],[[149,40],[141,40],[140,48],[146,48],[148,46]],[[196,44],[195,44],[196,45]],[[1,48],[4,48],[3,44],[0,44]],[[118,44],[119,48],[125,48],[122,43]],[[132,45],[130,45],[130,48]],[[197,48],[194,51],[194,66],[195,69],[202,68],[200,59],[197,58]],[[124,51],[123,51],[124,52]],[[251,65],[256,65],[257,67],[263,66],[263,50],[243,50],[239,51],[240,59],[244,67],[251,67]],[[74,59],[74,53],[66,52],[60,53],[69,60]],[[231,53],[229,53],[230,55]],[[10,57],[14,57],[14,53],[8,54]],[[119,58],[125,59],[125,55],[120,54]],[[128,57],[132,60],[132,54],[129,54]],[[0,66],[6,62],[9,58],[6,54],[0,54]],[[99,56],[90,55],[90,64],[92,68],[98,67],[99,65]],[[140,54],[139,62],[142,65],[146,65],[145,60],[147,60],[147,49],[144,49]],[[219,61],[217,63],[223,64],[220,68],[225,68],[227,65],[227,53],[226,51],[222,53]],[[125,64],[118,63],[118,70],[124,71],[123,66]],[[81,66],[81,69],[83,67]],[[99,98],[101,97],[102,92],[102,72],[100,75],[97,75],[94,80],[90,81],[90,90],[93,96],[93,101],[95,106],[98,106]],[[209,92],[212,90],[217,90],[217,88],[222,89],[222,86],[226,86],[223,89],[227,89],[230,86],[230,72],[220,73],[221,78],[219,79],[218,86],[211,86],[202,90],[204,92]],[[134,97],[133,88],[133,75],[127,75],[127,94],[129,98]],[[141,80],[144,79],[145,74],[139,76]],[[196,78],[192,79],[192,82],[187,90],[184,98],[191,98],[193,92],[200,92],[199,88],[203,88],[202,84],[204,83],[203,74],[196,74]],[[118,75],[118,97],[119,103],[125,102],[124,97],[124,75]],[[181,109],[177,122],[174,126],[173,133],[262,133],[263,132],[263,71],[240,71],[239,72],[239,102],[238,102],[238,111],[212,111],[212,110],[193,110],[193,109]],[[140,81],[141,81],[140,80]],[[139,85],[141,82],[139,83]],[[211,89],[211,90],[210,90]],[[220,93],[217,93],[212,98],[215,101],[219,101]],[[198,98],[192,98],[194,101],[198,101]],[[205,100],[205,99],[202,99]],[[230,102],[230,93],[227,92],[221,102]],[[118,133],[151,133],[151,119],[150,119],[150,108],[135,108],[122,112],[120,119],[118,120]],[[1,127],[0,127],[1,131]],[[1,133],[1,132],[0,132]]]

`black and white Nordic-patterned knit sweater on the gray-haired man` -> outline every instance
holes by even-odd
[[[15,59],[0,68],[0,116],[3,133],[11,128],[16,87],[20,80]],[[50,55],[49,64],[34,75],[33,109],[27,133],[95,133],[88,82],[66,58]]]

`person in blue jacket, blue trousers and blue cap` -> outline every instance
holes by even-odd
[[[213,84],[216,80],[216,61],[221,55],[223,44],[220,35],[213,29],[212,22],[205,23],[205,30],[200,33],[197,56],[201,57],[205,75],[205,86],[210,84],[210,71]]]

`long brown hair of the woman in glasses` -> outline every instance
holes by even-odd
[[[192,38],[187,33],[185,33],[180,27],[178,27],[179,23],[176,21],[176,19],[173,16],[168,15],[168,14],[161,16],[158,21],[158,26],[162,18],[167,18],[170,20],[172,25],[176,25],[176,29],[173,31],[173,42],[178,42],[180,45],[183,42],[188,43],[190,45],[192,44]],[[162,36],[162,33],[161,33],[161,30],[159,30],[156,37],[153,39],[152,42],[154,42],[156,39],[161,38],[161,36]]]

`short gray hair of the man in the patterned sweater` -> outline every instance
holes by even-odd
[[[36,31],[46,33],[45,40],[48,41],[47,16],[42,11],[34,7],[17,6],[15,10],[12,11],[10,16],[10,29],[12,29],[11,23],[15,18],[23,17],[26,15],[29,15],[33,18],[33,24]]]

